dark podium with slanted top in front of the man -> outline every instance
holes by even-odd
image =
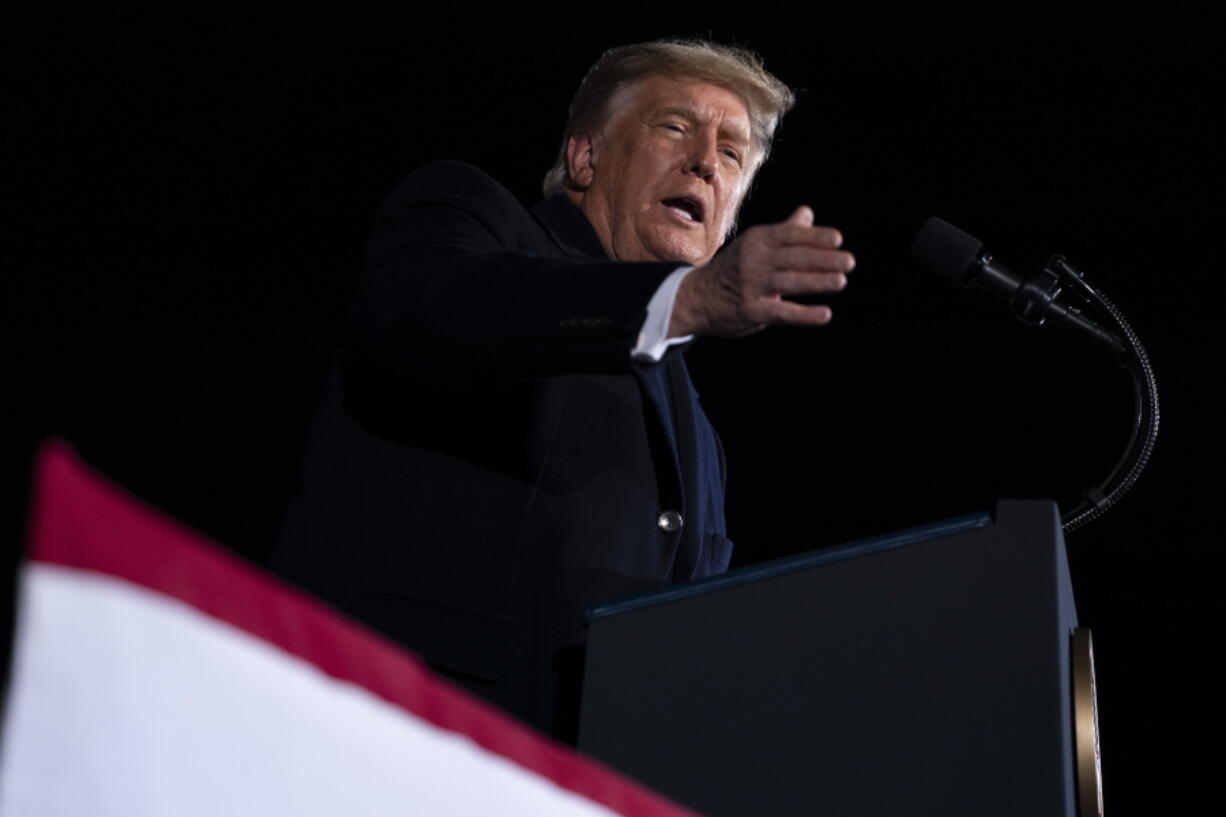
[[[1076,612],[1053,503],[588,621],[580,751],[711,817],[1078,813]]]

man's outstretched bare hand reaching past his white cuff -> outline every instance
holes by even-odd
[[[820,326],[830,307],[785,296],[839,292],[856,266],[839,249],[842,234],[814,227],[813,211],[796,209],[787,221],[750,227],[707,264],[685,276],[673,302],[669,337],[741,337],[772,324]]]

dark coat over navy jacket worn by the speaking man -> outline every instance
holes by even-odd
[[[565,736],[584,607],[732,550],[680,351],[630,359],[676,266],[609,261],[565,196],[413,173],[376,218],[273,566]]]

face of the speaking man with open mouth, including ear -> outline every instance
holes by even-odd
[[[756,167],[741,97],[667,76],[624,90],[600,132],[571,136],[568,157],[571,200],[619,261],[709,261]]]

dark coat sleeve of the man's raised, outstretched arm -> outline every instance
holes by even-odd
[[[343,364],[417,388],[624,373],[676,266],[565,256],[488,175],[430,164],[378,216]]]

